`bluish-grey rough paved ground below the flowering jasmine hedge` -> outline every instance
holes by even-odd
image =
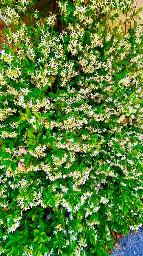
[[[120,248],[117,249],[116,247]],[[143,256],[143,227],[116,241],[112,256]]]

